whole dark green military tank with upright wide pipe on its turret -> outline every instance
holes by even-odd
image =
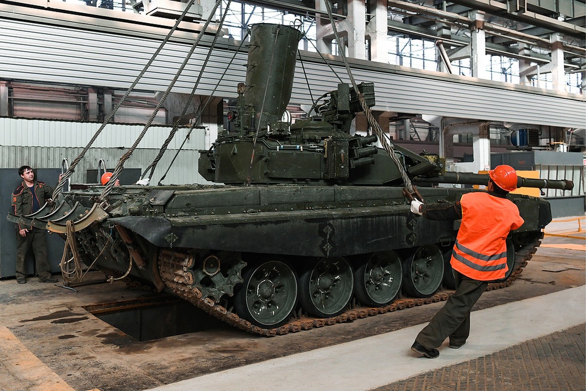
[[[410,213],[406,173],[425,202],[452,202],[487,175],[445,172],[437,155],[350,134],[374,85],[340,83],[291,121],[301,32],[258,24],[246,82],[229,126],[199,172],[217,185],[103,186],[63,193],[35,215],[13,216],[67,240],[63,260],[168,291],[235,327],[285,334],[447,299],[458,222]],[[363,99],[361,103],[360,100]],[[397,164],[400,162],[400,165]],[[570,181],[519,178],[519,187],[571,189]],[[530,259],[551,220],[545,200],[509,195],[525,223],[507,239],[504,287]]]

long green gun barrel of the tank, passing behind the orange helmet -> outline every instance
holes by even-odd
[[[463,185],[486,185],[488,183],[488,174],[473,174],[472,172],[446,172],[438,176],[415,176],[415,182],[435,182],[435,183],[461,183]],[[560,189],[571,190],[574,188],[574,182],[562,179],[559,181],[553,179],[533,179],[519,176],[517,179],[517,188],[537,188],[537,189]]]

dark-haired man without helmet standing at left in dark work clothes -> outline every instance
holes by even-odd
[[[12,212],[17,215],[30,215],[37,212],[50,201],[53,189],[43,182],[35,181],[35,173],[29,166],[18,169],[22,183],[12,192]],[[26,284],[25,257],[29,249],[35,256],[36,270],[42,283],[56,283],[51,276],[47,260],[47,239],[45,231],[33,226],[16,225],[16,281]]]

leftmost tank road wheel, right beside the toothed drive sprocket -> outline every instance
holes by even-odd
[[[284,324],[297,305],[297,274],[284,261],[269,260],[248,268],[234,294],[237,314],[262,328]]]

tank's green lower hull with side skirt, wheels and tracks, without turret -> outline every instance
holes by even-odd
[[[100,190],[67,193],[65,202],[89,209]],[[453,202],[473,190],[419,191],[426,202]],[[504,287],[520,274],[551,220],[547,202],[509,199],[525,223],[507,242],[507,279],[492,287]],[[301,331],[449,295],[458,222],[414,215],[402,188],[123,186],[108,203],[105,219],[67,233],[83,263],[111,279],[168,291],[256,334]],[[261,277],[255,277],[257,270]],[[341,285],[338,291],[335,283]],[[291,308],[265,321],[263,311],[255,314],[254,303],[277,300],[281,285],[285,296],[294,297]],[[309,293],[320,292],[344,300],[312,301]]]

